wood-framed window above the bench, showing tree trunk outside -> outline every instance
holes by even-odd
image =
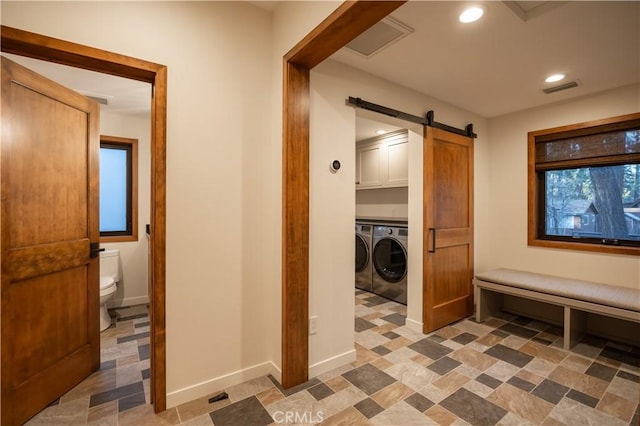
[[[640,113],[529,132],[529,245],[640,255]]]

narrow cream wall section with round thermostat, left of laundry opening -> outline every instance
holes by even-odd
[[[319,333],[309,338],[310,376],[355,361],[355,111],[334,107],[343,92],[334,83],[311,72],[309,314],[318,316]],[[333,160],[342,163],[337,173]]]

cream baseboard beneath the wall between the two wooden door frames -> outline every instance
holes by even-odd
[[[230,386],[238,385],[246,382],[247,380],[256,379],[268,374],[274,376],[278,382],[280,381],[280,369],[276,367],[273,362],[267,361],[262,364],[234,371],[233,373],[215,377],[193,386],[187,386],[182,389],[168,392],[167,408],[172,408],[177,405],[184,404],[185,402],[193,401],[194,399],[202,398],[215,392],[220,392]]]

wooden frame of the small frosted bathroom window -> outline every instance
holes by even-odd
[[[101,243],[119,243],[138,241],[138,140],[117,136],[100,135],[100,148],[125,147],[131,152],[127,158],[129,180],[127,181],[127,201],[130,203],[130,218],[127,231],[100,232]]]

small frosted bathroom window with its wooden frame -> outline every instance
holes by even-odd
[[[138,240],[138,141],[100,136],[100,241]]]

